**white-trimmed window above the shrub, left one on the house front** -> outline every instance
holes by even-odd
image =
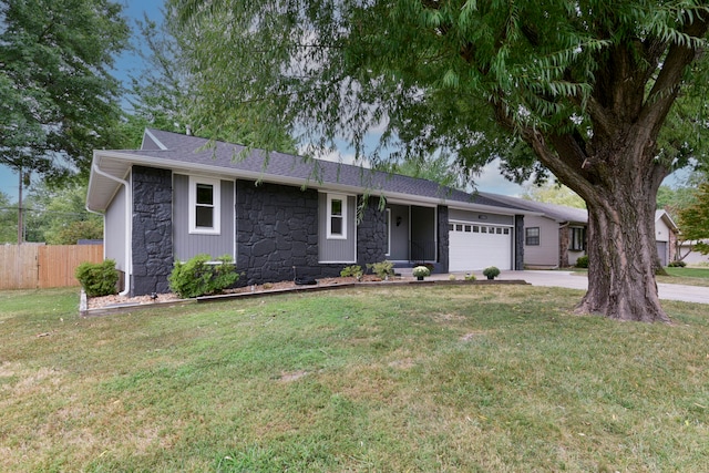
[[[219,179],[189,176],[189,233],[219,235]]]

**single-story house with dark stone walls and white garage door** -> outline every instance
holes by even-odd
[[[412,177],[146,130],[95,151],[86,207],[104,214],[123,292],[168,290],[174,260],[232,255],[240,285],[338,276],[384,259],[434,271],[522,269],[524,216]]]

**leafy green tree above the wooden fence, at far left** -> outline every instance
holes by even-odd
[[[120,117],[113,55],[126,45],[109,0],[8,0],[0,7],[0,163],[61,179],[88,172]]]

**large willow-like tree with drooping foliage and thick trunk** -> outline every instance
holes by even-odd
[[[374,164],[442,150],[464,175],[495,157],[516,179],[548,171],[589,212],[578,310],[669,320],[655,200],[668,173],[706,155],[703,2],[171,3],[199,32],[193,53],[215,116],[248,104],[266,143],[295,123],[304,140],[343,137],[357,154],[379,128]]]

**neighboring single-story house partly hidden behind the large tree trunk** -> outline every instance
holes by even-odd
[[[588,212],[583,208],[481,193],[532,212],[524,222],[524,264],[531,268],[574,266],[586,254]],[[665,210],[655,213],[655,239],[662,266],[675,259],[677,225]]]

